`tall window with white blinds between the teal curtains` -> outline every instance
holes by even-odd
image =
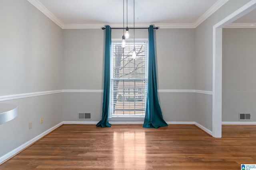
[[[110,117],[145,116],[148,82],[148,41],[112,41]]]

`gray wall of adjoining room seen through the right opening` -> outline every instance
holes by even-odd
[[[256,121],[256,28],[225,28],[222,35],[222,121],[238,121],[238,113]]]

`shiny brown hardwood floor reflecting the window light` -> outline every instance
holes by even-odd
[[[223,125],[216,139],[194,125],[62,125],[1,170],[240,170],[256,164],[256,126]]]

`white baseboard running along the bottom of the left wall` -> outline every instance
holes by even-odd
[[[29,140],[28,142],[20,145],[18,148],[14,149],[14,150],[8,152],[7,154],[5,154],[4,156],[0,157],[0,164],[4,163],[6,160],[10,159],[12,156],[16,155],[18,152],[20,152],[21,150],[25,149],[29,145],[32,145],[34,142],[36,142],[37,140],[41,139],[42,137],[44,137],[45,135],[47,135],[48,133],[50,133],[54,129],[60,127],[62,124],[63,123],[60,122],[58,125],[55,125],[54,127],[51,127],[50,129],[44,131],[40,135],[38,135],[38,136],[34,137],[33,139]]]

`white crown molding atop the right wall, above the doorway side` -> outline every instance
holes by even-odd
[[[194,23],[194,27],[196,28],[198,25],[200,25],[204,20],[210,17],[214,12],[216,12],[228,1],[229,0],[218,0],[211,8],[209,8],[202,16],[200,16],[198,20],[196,20],[196,22]]]

